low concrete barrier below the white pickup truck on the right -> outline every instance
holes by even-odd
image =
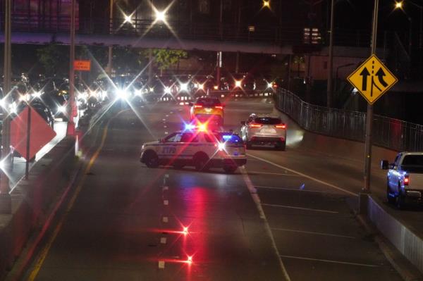
[[[401,254],[423,273],[423,235],[393,216],[388,206],[368,196],[367,217]]]

